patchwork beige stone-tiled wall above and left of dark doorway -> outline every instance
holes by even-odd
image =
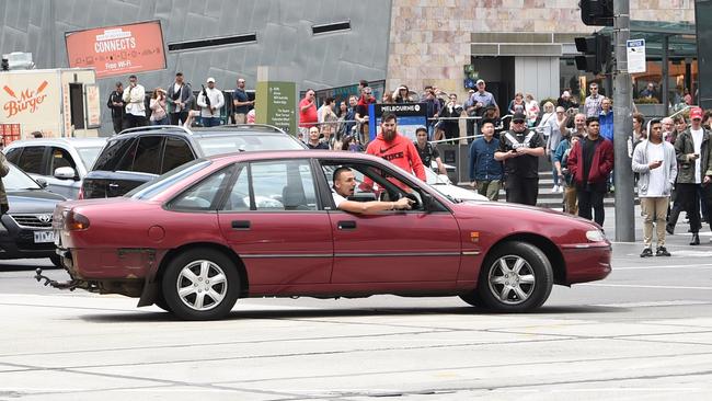
[[[577,0],[393,0],[387,88],[426,84],[464,94],[472,32],[589,34]],[[631,18],[694,20],[693,0],[631,0]]]

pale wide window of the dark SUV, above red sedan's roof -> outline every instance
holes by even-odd
[[[204,156],[252,150],[300,150],[305,147],[289,135],[237,134],[206,135],[196,138]]]

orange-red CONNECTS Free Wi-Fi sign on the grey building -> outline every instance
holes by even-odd
[[[96,78],[165,69],[160,21],[65,34],[69,67],[93,68]]]

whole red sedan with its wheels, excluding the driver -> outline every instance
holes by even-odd
[[[351,209],[370,202],[381,211],[336,207],[334,172],[343,167],[356,181]],[[401,197],[411,209],[393,209],[407,204]],[[198,159],[124,197],[62,203],[54,227],[71,276],[56,286],[136,297],[139,307],[192,320],[264,296],[459,296],[518,312],[541,306],[553,284],[611,271],[610,242],[590,221],[448,198],[351,152]]]

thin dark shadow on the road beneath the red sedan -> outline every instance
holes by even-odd
[[[611,313],[628,312],[628,308],[598,307],[598,306],[572,306],[572,307],[542,307],[535,312],[521,313],[526,316],[547,314],[581,314],[581,313]],[[222,320],[244,319],[319,319],[319,318],[361,318],[378,316],[418,316],[418,314],[462,314],[462,316],[503,316],[516,317],[517,313],[498,313],[486,309],[473,307],[448,307],[448,308],[358,308],[358,309],[285,309],[285,310],[233,310]],[[158,311],[141,311],[116,313],[112,311],[106,314],[84,314],[80,317],[89,322],[153,322],[175,320],[171,313]]]

